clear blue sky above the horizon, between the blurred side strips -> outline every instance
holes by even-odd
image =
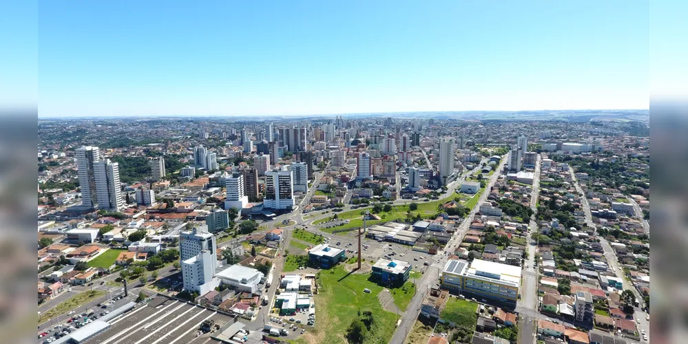
[[[41,1],[39,114],[647,109],[648,23],[638,0]]]

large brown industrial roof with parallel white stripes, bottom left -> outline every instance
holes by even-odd
[[[206,343],[211,333],[200,332],[203,321],[211,319],[222,327],[230,316],[182,301],[156,297],[114,319],[112,326],[85,343],[174,344]]]

